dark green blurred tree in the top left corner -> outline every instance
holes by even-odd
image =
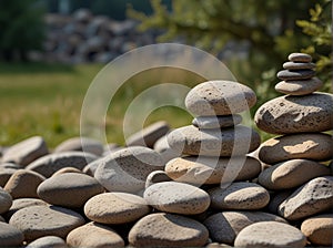
[[[28,60],[42,49],[43,6],[37,0],[0,0],[0,60]]]

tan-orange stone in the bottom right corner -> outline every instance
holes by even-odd
[[[312,245],[332,247],[333,214],[323,214],[305,219],[301,225],[301,231]]]

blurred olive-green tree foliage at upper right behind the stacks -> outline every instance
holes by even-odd
[[[173,0],[170,11],[160,0],[151,0],[153,14],[133,9],[129,9],[128,14],[141,21],[141,31],[164,30],[159,38],[161,42],[180,39],[214,54],[222,51],[228,42],[249,44],[245,60],[235,55],[224,62],[239,81],[255,89],[260,105],[276,96],[276,72],[282,70],[289,53],[319,45],[314,41],[315,32],[309,33],[309,27],[304,32],[305,21],[297,23],[297,20],[307,20],[310,9],[315,4],[327,6],[330,1]],[[316,62],[320,58],[314,59]]]

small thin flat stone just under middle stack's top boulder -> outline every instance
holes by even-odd
[[[242,116],[234,115],[218,115],[218,116],[198,116],[193,118],[192,125],[199,128],[224,128],[240,124]]]

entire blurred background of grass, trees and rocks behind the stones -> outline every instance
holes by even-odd
[[[218,56],[256,92],[252,116],[278,96],[275,74],[291,52],[311,54],[322,90],[332,91],[332,0],[1,0],[0,146],[42,135],[54,147],[79,135],[82,101],[97,73],[117,56],[158,42]],[[163,79],[191,87],[203,81],[174,69],[133,76],[110,105],[108,142],[123,143],[127,106]],[[165,120],[178,127],[191,118],[163,107],[147,124]]]

